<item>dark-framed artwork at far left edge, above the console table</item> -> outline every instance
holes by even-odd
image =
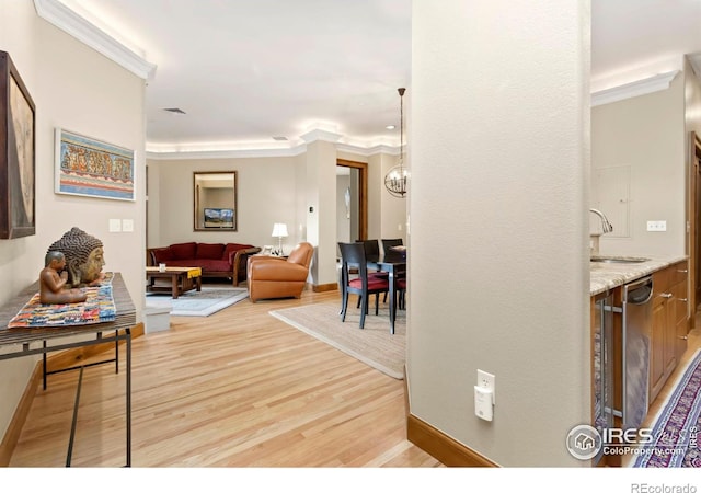
[[[35,233],[35,107],[10,55],[0,51],[0,239]]]

